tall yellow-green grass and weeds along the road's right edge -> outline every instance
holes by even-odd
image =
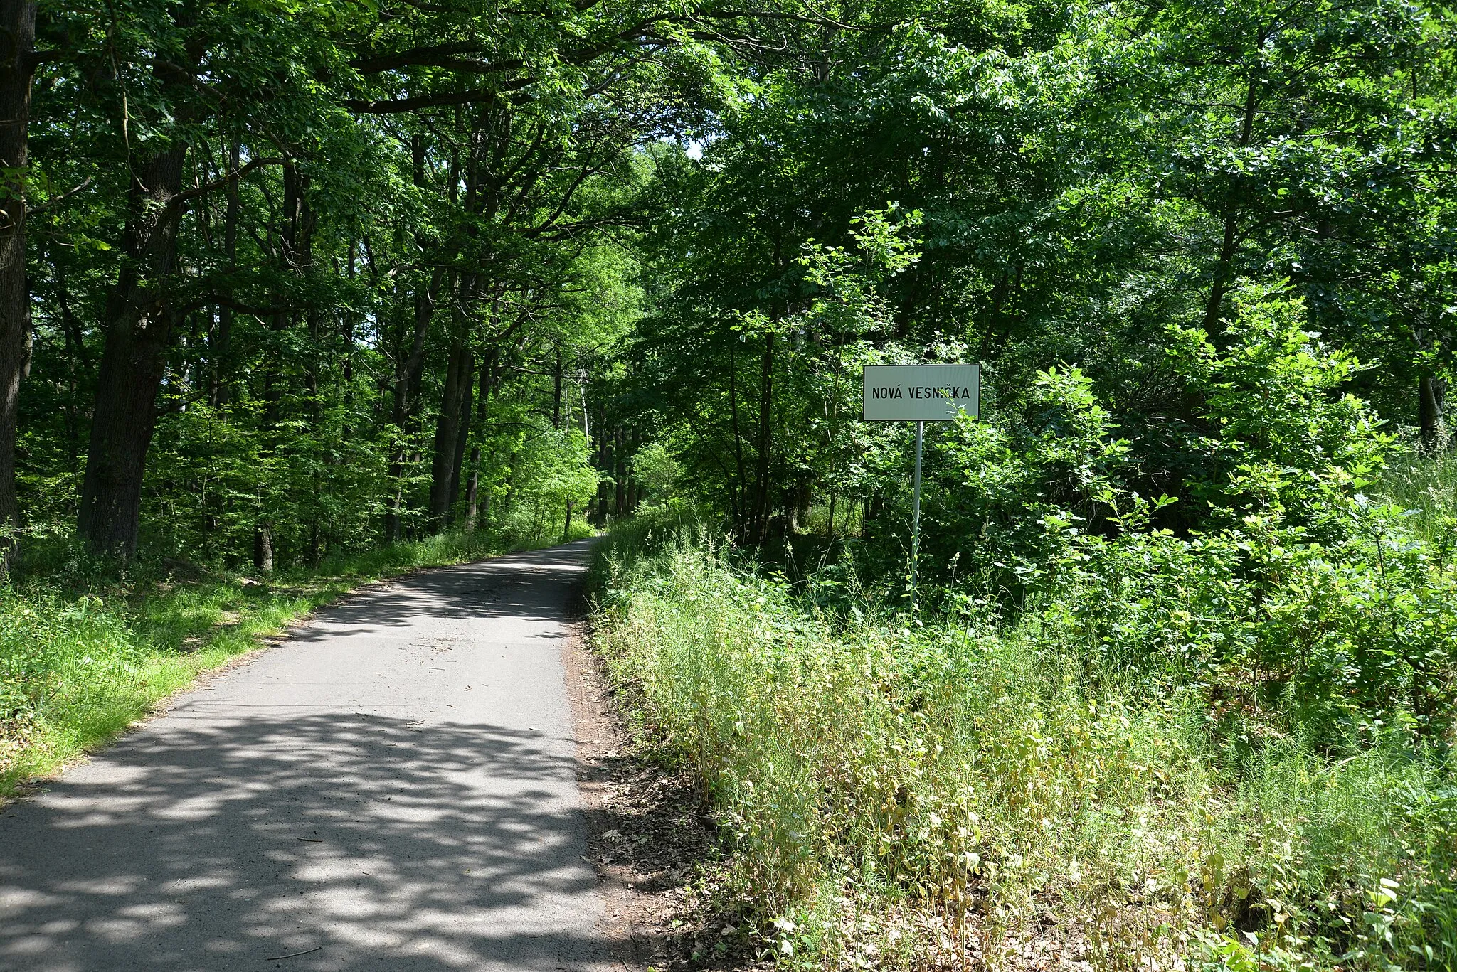
[[[825,611],[682,523],[602,557],[597,647],[701,781],[739,927],[782,966],[1457,965],[1442,740],[1333,752],[1058,612]]]

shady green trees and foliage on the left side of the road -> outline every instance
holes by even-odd
[[[638,313],[641,141],[678,45],[640,63],[609,6],[42,3],[23,535],[130,460],[141,509],[102,507],[143,558],[208,567],[584,513],[602,446],[570,430],[622,428],[597,382]],[[441,70],[439,44],[510,77]],[[92,442],[117,414],[144,431]]]

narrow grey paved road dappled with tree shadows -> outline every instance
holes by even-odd
[[[0,807],[0,969],[608,968],[559,653],[587,544],[323,611]]]

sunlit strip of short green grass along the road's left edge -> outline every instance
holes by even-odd
[[[452,533],[271,576],[0,587],[0,797],[92,750],[204,672],[350,590],[417,567],[549,546]],[[175,571],[173,571],[175,573]]]

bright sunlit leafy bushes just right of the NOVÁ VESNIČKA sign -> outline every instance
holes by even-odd
[[[962,417],[938,436],[932,465],[944,472],[925,513],[930,576],[949,580],[937,561],[954,561],[963,576],[1020,597],[1050,581],[1048,565],[1072,538],[1125,532],[1123,513],[1144,509],[1144,498],[1150,519],[1180,535],[1339,544],[1365,532],[1358,497],[1400,449],[1340,391],[1358,363],[1305,331],[1304,303],[1279,289],[1246,284],[1234,305],[1221,348],[1202,329],[1171,329],[1187,402],[1173,444],[1120,439],[1078,369],[1040,372],[1021,401]],[[1151,478],[1145,463],[1161,472]],[[1141,498],[1138,485],[1154,481],[1163,494]]]

